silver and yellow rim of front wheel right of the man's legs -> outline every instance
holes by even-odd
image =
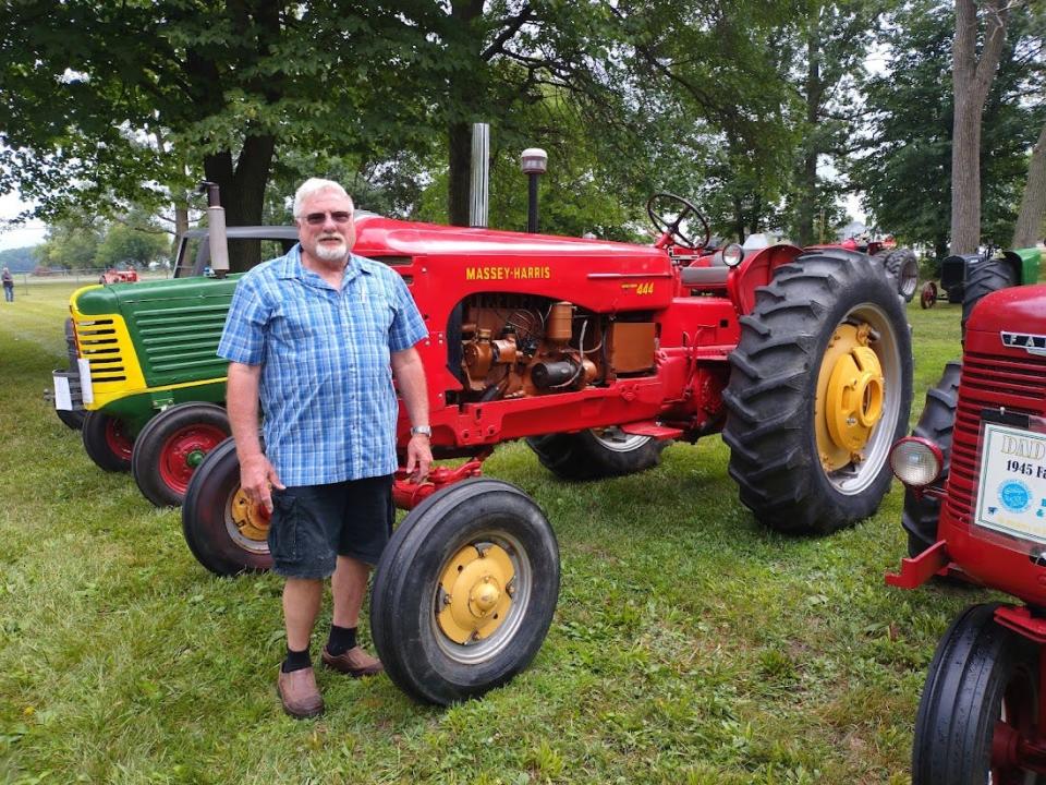
[[[469,539],[439,570],[433,595],[437,644],[455,662],[475,665],[511,645],[533,588],[531,560],[506,532]]]

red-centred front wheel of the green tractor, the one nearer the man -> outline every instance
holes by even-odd
[[[179,507],[204,456],[230,434],[229,415],[217,403],[179,403],[161,411],[142,428],[131,455],[142,495],[157,507]]]

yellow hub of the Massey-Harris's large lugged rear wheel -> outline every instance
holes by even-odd
[[[843,324],[828,343],[817,377],[817,449],[827,471],[864,460],[861,450],[883,416],[883,366],[867,324]]]

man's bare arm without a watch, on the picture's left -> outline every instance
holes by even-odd
[[[262,381],[260,365],[229,363],[229,379],[226,383],[226,402],[229,425],[236,442],[236,458],[240,459],[240,487],[255,504],[263,504],[272,511],[272,493],[269,485],[283,488],[283,483],[262,451],[258,439],[258,389]]]

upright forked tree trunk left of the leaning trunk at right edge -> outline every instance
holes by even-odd
[[[956,114],[951,147],[951,253],[981,244],[981,120],[1006,40],[1007,0],[985,3],[984,41],[977,58],[977,8],[956,2],[952,85]]]

